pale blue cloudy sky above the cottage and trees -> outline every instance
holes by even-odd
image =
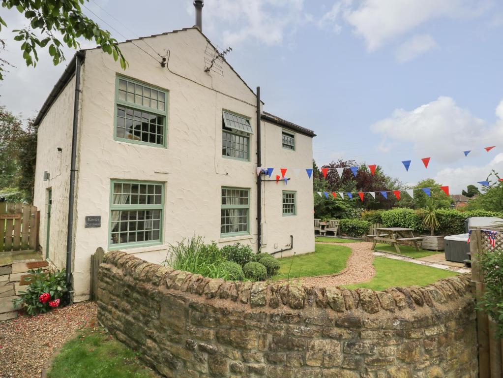
[[[193,26],[192,3],[90,0],[83,11],[123,41]],[[65,62],[53,66],[40,51],[37,67],[26,67],[11,32],[25,19],[1,12],[9,28],[0,56],[16,68],[0,105],[33,117]],[[404,184],[434,178],[454,194],[492,169],[503,176],[501,1],[206,0],[203,32],[219,49],[232,47],[227,61],[261,87],[265,111],[315,131],[318,166],[377,164]]]

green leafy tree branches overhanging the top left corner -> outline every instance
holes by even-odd
[[[63,43],[69,48],[77,49],[80,44],[77,38],[94,40],[103,51],[119,60],[122,69],[126,69],[127,61],[122,55],[117,40],[110,36],[110,32],[102,30],[96,22],[83,15],[80,5],[89,0],[1,0],[2,7],[16,8],[29,21],[29,26],[13,30],[17,33],[16,41],[22,41],[21,50],[27,66],[36,66],[38,61],[37,48],[46,48],[52,56],[52,62],[57,65],[65,60],[62,50]],[[7,27],[0,17],[0,31]],[[37,34],[38,35],[37,35]],[[60,37],[56,35],[60,34]],[[5,44],[5,41],[0,42]],[[3,80],[3,65],[0,64],[0,80]]]

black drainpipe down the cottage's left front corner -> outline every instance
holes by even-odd
[[[75,197],[75,161],[77,158],[77,126],[78,126],[78,98],[80,94],[80,64],[84,54],[76,53],[75,59],[75,99],[73,101],[73,131],[71,138],[71,166],[70,166],[70,193],[68,197],[68,234],[66,236],[66,288],[72,290],[71,280],[71,250],[73,239],[73,208]],[[71,301],[72,295],[69,295]]]

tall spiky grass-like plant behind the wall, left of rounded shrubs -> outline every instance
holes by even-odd
[[[170,261],[166,258],[164,263],[175,269],[201,274],[209,278],[223,278],[227,274],[222,267],[225,258],[217,244],[212,242],[206,245],[200,236],[194,236],[187,240],[187,243],[184,239],[176,245],[170,244],[168,255]]]

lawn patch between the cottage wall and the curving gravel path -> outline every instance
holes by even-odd
[[[350,255],[348,247],[316,244],[314,252],[278,259],[281,267],[274,279],[288,278],[289,271],[290,278],[338,273],[346,267]]]

